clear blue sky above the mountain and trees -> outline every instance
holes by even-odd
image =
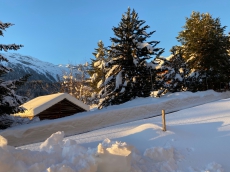
[[[219,17],[230,32],[229,0],[0,0],[0,20],[15,24],[0,43],[23,44],[16,53],[53,64],[85,63],[94,58],[99,40],[111,45],[112,27],[128,6],[150,26],[148,31],[156,30],[150,40],[160,41],[163,56],[180,45],[176,36],[192,11]]]

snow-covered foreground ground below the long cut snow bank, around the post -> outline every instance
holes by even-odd
[[[190,100],[191,95],[176,93],[170,102]],[[229,104],[230,99],[222,99],[170,113],[166,132],[158,116],[65,138],[60,130],[42,143],[18,148],[0,137],[0,172],[229,172]]]

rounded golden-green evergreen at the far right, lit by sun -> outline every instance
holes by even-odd
[[[221,83],[228,83],[230,40],[224,33],[226,26],[222,27],[220,19],[209,13],[193,12],[183,28],[177,40],[189,68],[198,78],[196,90],[217,90]]]

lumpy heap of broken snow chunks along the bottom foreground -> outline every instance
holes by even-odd
[[[143,166],[148,163],[147,171],[164,169],[169,172],[170,164],[166,164],[174,161],[173,148],[147,149],[144,156],[150,160],[140,161],[143,157],[126,143],[105,139],[97,148],[86,149],[74,140],[63,138],[64,132],[56,132],[40,145],[38,151],[31,151],[8,146],[6,139],[0,136],[0,172],[134,172],[137,169],[145,172],[138,163]],[[159,157],[154,155],[156,152]]]

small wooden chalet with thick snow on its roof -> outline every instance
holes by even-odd
[[[26,109],[25,112],[14,114],[14,116],[30,119],[37,116],[40,120],[62,118],[89,110],[88,105],[67,93],[40,96],[21,106]]]

